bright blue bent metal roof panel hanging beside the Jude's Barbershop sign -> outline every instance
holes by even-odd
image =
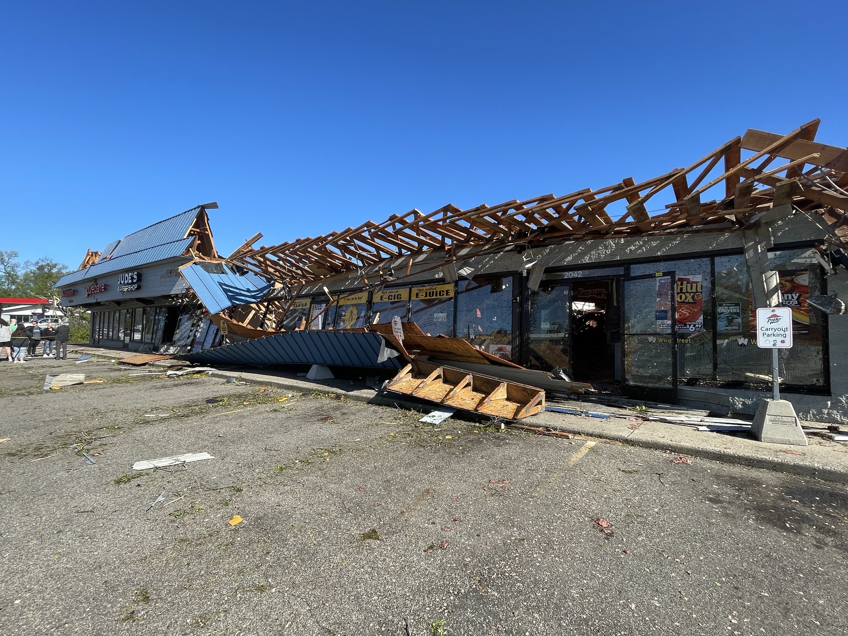
[[[207,271],[210,266],[218,266],[224,273]],[[234,304],[255,303],[265,298],[265,293],[273,287],[264,278],[250,272],[236,276],[220,263],[187,265],[180,273],[210,314],[217,314]]]

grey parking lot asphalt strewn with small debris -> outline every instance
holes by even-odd
[[[848,629],[840,484],[144,371],[0,363],[0,633]]]

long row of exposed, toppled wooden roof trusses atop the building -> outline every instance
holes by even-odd
[[[452,259],[461,248],[741,230],[782,206],[784,215],[793,209],[819,209],[834,229],[845,226],[848,233],[841,212],[848,209],[843,189],[848,187],[848,150],[815,142],[819,122],[812,120],[787,135],[749,129],[687,168],[640,183],[628,177],[560,197],[545,194],[465,210],[448,204],[429,214],[412,209],[382,223],[367,221],[342,232],[258,249],[252,247],[261,237],[257,235],[226,260],[297,285],[427,251],[444,250]],[[715,198],[702,200],[707,196]],[[661,203],[669,198],[671,203]],[[616,203],[625,211],[614,219]]]

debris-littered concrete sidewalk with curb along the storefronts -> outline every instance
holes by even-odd
[[[108,358],[121,358],[127,355],[126,352],[111,349],[94,347],[78,349],[80,349],[79,353],[101,355]],[[86,350],[82,351],[81,349]],[[178,362],[178,360],[162,360],[152,364],[167,366],[175,362]],[[139,371],[150,366],[139,367]],[[366,387],[365,382],[341,379],[312,382],[304,377],[298,377],[293,372],[255,368],[212,371],[211,375],[221,378],[233,377],[242,382],[269,385],[300,393],[304,391],[336,393],[344,398],[355,399],[360,402],[396,404],[404,408],[421,410],[425,413],[434,410],[432,404],[410,400],[405,396],[391,392],[377,391],[374,388]],[[600,419],[544,411],[537,416],[522,420],[521,423],[528,427],[544,427],[594,438],[610,439],[632,446],[666,450],[678,455],[782,471],[801,477],[815,477],[828,482],[848,483],[848,444],[834,442],[816,435],[807,435],[808,446],[764,444],[751,438],[750,433],[701,432],[692,427],[661,421],[642,421],[639,414],[625,414],[622,413],[621,409],[604,407],[599,404],[573,402],[565,405],[581,410],[606,412],[610,415],[610,418]],[[646,415],[651,415],[650,411]],[[823,424],[814,422],[804,422],[804,424],[805,426],[824,428]]]

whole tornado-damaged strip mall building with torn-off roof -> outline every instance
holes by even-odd
[[[92,343],[101,345],[168,342],[176,316],[204,305],[210,313],[220,311],[268,331],[360,329],[399,316],[427,334],[465,339],[528,368],[561,370],[600,390],[724,415],[752,415],[768,396],[772,355],[756,346],[755,313],[757,306],[779,302],[792,308],[795,338],[793,348],[779,354],[781,392],[802,418],[848,422],[848,316],[828,315],[807,302],[833,294],[848,297],[848,259],[840,248],[848,224],[836,207],[844,201],[848,208],[848,196],[842,197],[835,183],[836,190],[818,192],[816,184],[823,181],[811,181],[809,170],[805,175],[813,186],[792,172],[796,166],[804,168],[805,161],[806,167],[825,170],[814,163],[822,153],[829,153],[828,165],[836,161],[841,166],[845,148],[805,141],[804,135],[810,137],[806,126],[784,137],[749,131],[699,164],[642,184],[624,180],[616,187],[561,198],[546,195],[493,208],[451,209],[438,224],[433,215],[414,210],[417,214],[390,220],[390,235],[387,221],[371,224],[365,238],[360,227],[309,239],[308,250],[303,242],[255,249],[247,243],[220,259],[213,246],[206,255],[220,260],[215,263],[219,269],[205,265],[193,278],[175,276],[186,270],[181,264],[193,259],[188,243],[180,243],[196,227],[186,222],[180,226],[186,228],[185,236],[169,234],[174,243],[170,250],[156,248],[163,250],[158,259],[115,254],[106,261],[108,271],[92,272],[97,267],[92,265],[65,276],[60,286],[86,294],[67,299],[91,307]],[[772,137],[762,140],[754,133]],[[821,148],[813,157],[805,144]],[[740,159],[740,147],[753,153],[753,159]],[[778,177],[773,166],[747,167],[761,156],[792,161]],[[721,179],[727,183],[726,198],[701,203],[695,197],[693,203],[699,182],[709,179],[708,170],[692,183],[685,176],[710,161],[708,168],[717,165],[719,158],[725,161]],[[848,171],[848,159],[844,161]],[[840,179],[844,172],[826,174]],[[757,190],[755,181],[768,187]],[[791,189],[802,181],[803,186]],[[676,203],[668,204],[663,215],[643,215],[646,197],[668,184],[674,187]],[[725,184],[721,187],[723,193]],[[629,219],[624,215],[612,221],[606,215],[604,205],[611,204],[613,195],[628,204]],[[194,210],[195,216],[200,218],[200,212],[205,220],[202,208]],[[454,220],[466,225],[451,226]],[[534,225],[520,236],[513,232],[508,240],[494,238],[497,228],[518,222]],[[395,246],[408,243],[412,239],[404,232],[415,223],[421,240],[438,243],[432,237],[442,232],[441,245],[398,248],[394,254],[383,247],[392,241]],[[457,227],[480,232],[482,239],[446,242],[444,236],[455,236]],[[483,235],[479,228],[490,233]],[[355,253],[340,243],[352,232],[359,232]],[[377,232],[384,238],[374,238]],[[321,252],[315,247],[319,240],[324,241],[319,247],[332,243],[332,249]],[[198,241],[197,233],[192,241]],[[381,246],[370,260],[360,254],[369,244]],[[295,249],[300,250],[297,258]],[[126,265],[120,265],[121,258]],[[343,259],[350,265],[337,265]],[[196,267],[197,260],[193,262]],[[122,291],[122,286],[137,284],[126,276],[135,271],[142,273],[142,286],[150,285],[142,287],[143,294],[139,289]],[[256,275],[249,284],[248,272]],[[226,289],[223,282],[210,282],[210,276],[226,276]],[[268,283],[266,304],[251,298],[233,302],[239,280],[246,281],[245,293]],[[108,289],[85,291],[103,284]],[[215,294],[223,290],[231,298],[229,305],[209,299],[215,284]],[[276,298],[271,311],[270,298]],[[194,321],[192,328],[198,324]],[[188,338],[196,339],[196,333]]]

